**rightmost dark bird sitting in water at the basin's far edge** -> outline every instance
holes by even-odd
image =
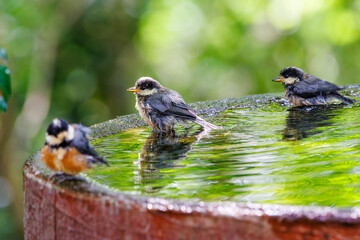
[[[297,67],[284,68],[273,81],[284,85],[285,96],[294,107],[326,105],[326,101],[332,98],[339,99],[345,104],[355,102],[338,93],[340,88],[335,84],[307,74]]]

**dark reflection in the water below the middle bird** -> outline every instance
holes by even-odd
[[[138,161],[135,162],[139,166],[137,182],[144,186],[144,191],[151,193],[164,187],[156,185],[156,180],[169,177],[161,173],[161,169],[184,167],[179,164],[179,160],[185,159],[191,146],[206,134],[206,131],[191,132],[191,129],[180,135],[152,132],[142,145]]]

